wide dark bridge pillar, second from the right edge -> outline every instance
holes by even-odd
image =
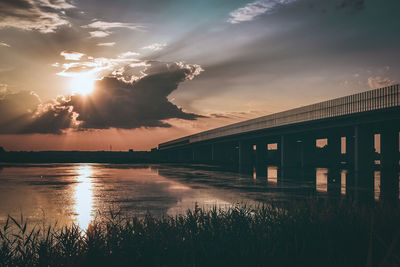
[[[354,127],[354,171],[368,171],[374,163],[374,132],[371,127]]]

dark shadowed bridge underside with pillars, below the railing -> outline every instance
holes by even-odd
[[[281,167],[335,167],[347,164],[362,171],[380,162],[393,171],[399,166],[400,109],[365,112],[334,119],[180,144],[158,151],[173,162],[254,164]]]

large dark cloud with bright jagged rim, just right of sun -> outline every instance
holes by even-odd
[[[186,113],[167,96],[178,85],[201,71],[196,65],[150,62],[145,76],[133,82],[106,77],[96,83],[88,97],[74,95],[64,103],[78,115],[82,129],[170,127],[163,120],[194,120],[199,115]]]

